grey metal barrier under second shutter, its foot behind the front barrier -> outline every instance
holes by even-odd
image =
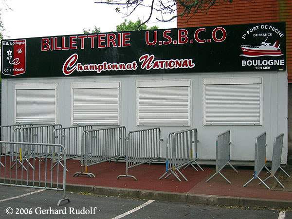
[[[75,126],[68,128],[55,128],[53,135],[53,143],[60,144],[66,148],[66,159],[73,159],[82,156],[81,148],[83,144],[83,132],[92,129],[91,125],[88,126]],[[55,157],[57,161],[53,168],[64,160],[64,156],[59,154],[59,157]],[[60,163],[62,165],[62,163]],[[68,171],[66,169],[66,171]]]

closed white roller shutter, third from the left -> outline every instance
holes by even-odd
[[[137,82],[137,125],[190,126],[190,80]]]

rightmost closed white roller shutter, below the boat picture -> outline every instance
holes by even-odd
[[[204,125],[261,125],[261,78],[205,79]]]

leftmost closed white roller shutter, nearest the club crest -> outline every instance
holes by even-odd
[[[15,123],[55,124],[56,84],[16,84]]]

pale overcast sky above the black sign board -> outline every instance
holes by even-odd
[[[2,0],[3,1],[3,0]],[[102,32],[114,31],[125,18],[114,11],[113,6],[94,3],[94,0],[5,0],[12,10],[2,11],[4,39],[81,34],[83,28],[100,27]],[[5,7],[1,2],[1,8]],[[7,7],[6,7],[7,8]],[[138,16],[139,15],[139,16]],[[147,11],[132,14],[132,21],[146,19]],[[160,29],[176,28],[176,20],[157,22],[153,19],[147,26]]]

